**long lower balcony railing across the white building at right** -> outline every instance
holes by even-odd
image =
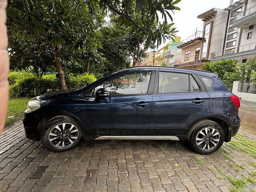
[[[212,58],[256,49],[256,42],[212,53]]]

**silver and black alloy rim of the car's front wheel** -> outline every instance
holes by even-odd
[[[71,146],[78,138],[78,129],[70,123],[56,125],[49,133],[50,143],[59,148]]]

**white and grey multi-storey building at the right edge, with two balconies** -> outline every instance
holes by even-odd
[[[220,50],[213,50],[211,61],[235,58],[237,64],[256,56],[256,0],[230,1],[227,12],[225,37]]]

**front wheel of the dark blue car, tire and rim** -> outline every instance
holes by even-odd
[[[48,150],[63,152],[78,146],[83,140],[83,132],[80,125],[73,118],[56,116],[47,122],[41,140]]]

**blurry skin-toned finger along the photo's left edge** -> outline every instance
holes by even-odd
[[[0,0],[0,136],[2,134],[7,104],[8,104],[8,71],[9,60],[6,48],[8,46],[6,30],[6,6],[7,0]]]

